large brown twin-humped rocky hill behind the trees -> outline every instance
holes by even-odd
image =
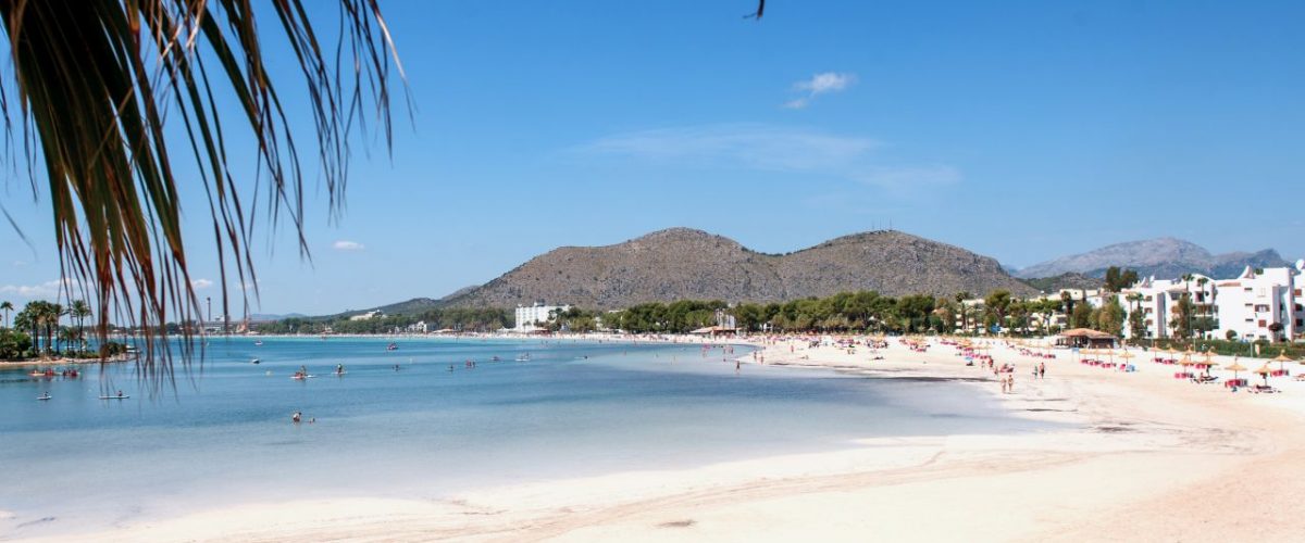
[[[686,298],[775,302],[846,290],[953,296],[998,288],[1035,293],[992,258],[895,230],[773,255],[727,237],[672,228],[616,245],[555,249],[446,303],[513,307],[545,299],[617,309]]]

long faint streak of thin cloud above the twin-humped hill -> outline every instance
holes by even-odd
[[[763,124],[724,124],[641,130],[595,139],[572,151],[658,164],[741,168],[846,178],[887,189],[958,182],[945,165],[890,164],[872,138]]]

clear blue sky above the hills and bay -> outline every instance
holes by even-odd
[[[1013,266],[1158,236],[1305,257],[1305,3],[384,8],[415,122],[356,156],[341,221],[309,198],[311,263],[260,230],[260,313],[438,297],[677,225],[788,251],[891,221]],[[44,194],[3,194],[34,245],[0,229],[20,302],[57,255]],[[191,195],[192,273],[217,281]]]

